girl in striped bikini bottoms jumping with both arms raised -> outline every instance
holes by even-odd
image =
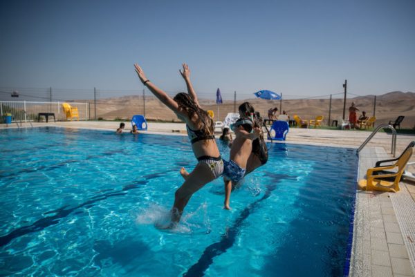
[[[190,82],[190,69],[187,64],[183,64],[183,72],[179,70],[185,79],[187,93],[178,93],[173,99],[150,82],[138,64],[134,66],[142,84],[147,86],[151,93],[186,123],[187,135],[192,142],[193,153],[199,161],[190,174],[182,173],[182,175],[185,174],[183,176],[185,182],[174,194],[172,222],[176,223],[180,220],[193,193],[223,173],[223,161],[214,139],[213,121],[208,113],[199,106],[197,95],[194,92],[192,82]]]

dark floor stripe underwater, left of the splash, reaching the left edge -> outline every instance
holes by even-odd
[[[142,176],[142,178],[144,178],[145,180],[138,180],[138,181],[135,181],[135,182],[131,182],[131,184],[126,184],[126,185],[124,185],[124,187],[122,187],[122,189],[120,189],[118,191],[112,191],[112,192],[109,192],[109,193],[103,193],[101,195],[95,195],[92,198],[89,198],[89,200],[87,200],[86,202],[77,205],[76,207],[66,209],[68,207],[68,205],[66,205],[64,207],[60,207],[59,209],[55,209],[53,211],[46,211],[45,213],[43,213],[44,215],[47,215],[47,214],[50,214],[50,213],[55,213],[55,215],[46,216],[45,218],[41,218],[41,219],[35,221],[32,225],[19,227],[15,230],[11,231],[10,233],[8,233],[6,236],[1,236],[0,237],[0,247],[8,245],[8,243],[10,243],[15,238],[19,238],[19,237],[24,236],[28,233],[34,233],[36,231],[42,231],[46,227],[56,225],[60,222],[60,219],[66,218],[66,216],[69,216],[71,213],[73,213],[73,211],[75,211],[77,209],[80,209],[82,207],[91,208],[91,207],[93,207],[93,204],[95,202],[105,200],[107,198],[111,198],[111,197],[114,197],[114,196],[126,195],[128,193],[127,191],[129,191],[131,189],[138,189],[141,185],[147,184],[149,182],[149,179],[158,178],[158,177],[163,176],[163,175],[166,175],[166,174],[165,173],[147,174],[147,175]]]

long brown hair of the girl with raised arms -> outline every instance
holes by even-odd
[[[194,100],[190,97],[187,93],[178,93],[173,98],[174,101],[177,102],[178,106],[180,108],[183,108],[183,110],[186,111],[187,116],[192,119],[194,115],[197,115],[199,117],[199,120],[202,122],[203,126],[201,127],[201,130],[203,130],[205,133],[213,134],[213,120],[210,118],[208,113],[203,110],[199,105],[194,102]]]

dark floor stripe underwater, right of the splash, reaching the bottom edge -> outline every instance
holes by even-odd
[[[224,233],[221,236],[221,240],[219,242],[214,242],[212,245],[206,247],[205,251],[203,251],[201,258],[199,258],[199,260],[194,265],[192,265],[192,267],[187,269],[187,271],[183,274],[183,277],[204,276],[206,269],[208,269],[209,266],[212,265],[213,258],[225,253],[227,249],[232,247],[239,234],[239,231],[241,230],[243,221],[246,220],[248,216],[250,216],[250,213],[252,213],[252,211],[254,211],[254,209],[257,208],[260,202],[270,197],[271,193],[277,188],[277,183],[283,179],[297,180],[297,178],[290,175],[276,174],[270,172],[267,172],[267,175],[268,177],[270,176],[277,182],[275,182],[275,184],[267,185],[264,196],[262,196],[262,198],[258,199],[257,201],[248,204],[248,206],[245,209],[243,209],[243,211],[239,215],[239,218],[235,220],[234,225],[232,225],[232,227],[230,227],[226,231],[226,233]]]

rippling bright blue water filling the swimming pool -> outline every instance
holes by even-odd
[[[32,128],[2,130],[0,142],[0,276],[347,272],[351,149],[273,144],[232,193],[232,211],[215,180],[177,229],[160,231],[181,166],[196,164],[187,137]]]

